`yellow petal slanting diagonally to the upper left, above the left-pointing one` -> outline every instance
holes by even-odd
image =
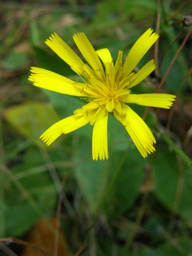
[[[76,73],[82,74],[83,61],[56,33],[52,34],[45,42]]]

